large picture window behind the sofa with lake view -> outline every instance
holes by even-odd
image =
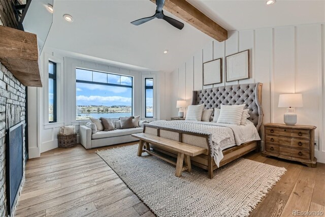
[[[76,120],[132,116],[133,77],[76,69]]]

